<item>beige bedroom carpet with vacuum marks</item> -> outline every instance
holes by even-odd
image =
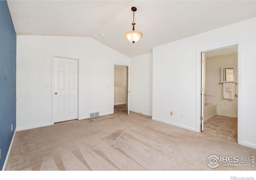
[[[119,112],[16,132],[6,170],[255,170],[210,168],[213,154],[248,157],[256,149]]]

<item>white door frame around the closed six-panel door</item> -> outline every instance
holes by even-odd
[[[77,118],[80,119],[80,116],[79,116],[79,107],[80,107],[80,101],[79,101],[79,97],[80,97],[80,86],[79,86],[79,74],[80,74],[80,71],[79,71],[79,60],[80,58],[75,58],[75,57],[71,57],[71,56],[64,56],[64,55],[58,55],[58,54],[52,54],[52,124],[54,124],[54,73],[55,73],[55,70],[54,70],[54,58],[55,57],[59,57],[59,58],[68,58],[68,59],[73,59],[73,60],[77,60],[77,64],[78,64],[78,93],[77,93]]]

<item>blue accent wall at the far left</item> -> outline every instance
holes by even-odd
[[[16,32],[7,1],[0,0],[0,170],[4,166],[15,129]]]

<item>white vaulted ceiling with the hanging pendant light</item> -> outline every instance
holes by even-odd
[[[90,36],[127,57],[256,17],[255,0],[8,0],[17,35]],[[132,30],[143,37],[132,44]],[[100,34],[104,34],[104,37]]]

